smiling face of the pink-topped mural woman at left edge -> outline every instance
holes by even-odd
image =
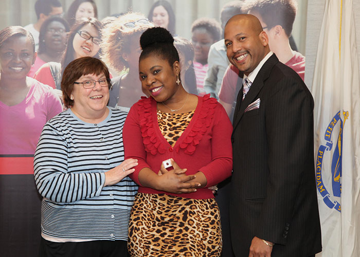
[[[24,79],[36,58],[28,36],[15,35],[0,48],[2,78]]]

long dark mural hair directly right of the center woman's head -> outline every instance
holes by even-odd
[[[174,37],[174,46],[179,53],[184,55],[184,62],[187,63],[191,61],[191,64],[188,69],[183,70],[185,72],[185,85],[188,89],[190,94],[197,95],[197,88],[196,88],[196,76],[194,70],[194,47],[192,46],[191,42],[181,36]]]

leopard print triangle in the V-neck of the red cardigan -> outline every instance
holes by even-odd
[[[157,111],[157,122],[165,139],[174,146],[177,139],[189,125],[195,111],[182,114],[164,113]]]

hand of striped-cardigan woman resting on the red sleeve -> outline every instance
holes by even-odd
[[[136,159],[127,159],[110,171],[106,171],[104,187],[115,185],[120,182],[121,179],[133,173],[135,171],[133,168],[137,166],[137,164]]]

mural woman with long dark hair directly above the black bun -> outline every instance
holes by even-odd
[[[166,28],[175,35],[175,14],[171,4],[166,0],[156,1],[150,8],[149,21],[156,27]]]

